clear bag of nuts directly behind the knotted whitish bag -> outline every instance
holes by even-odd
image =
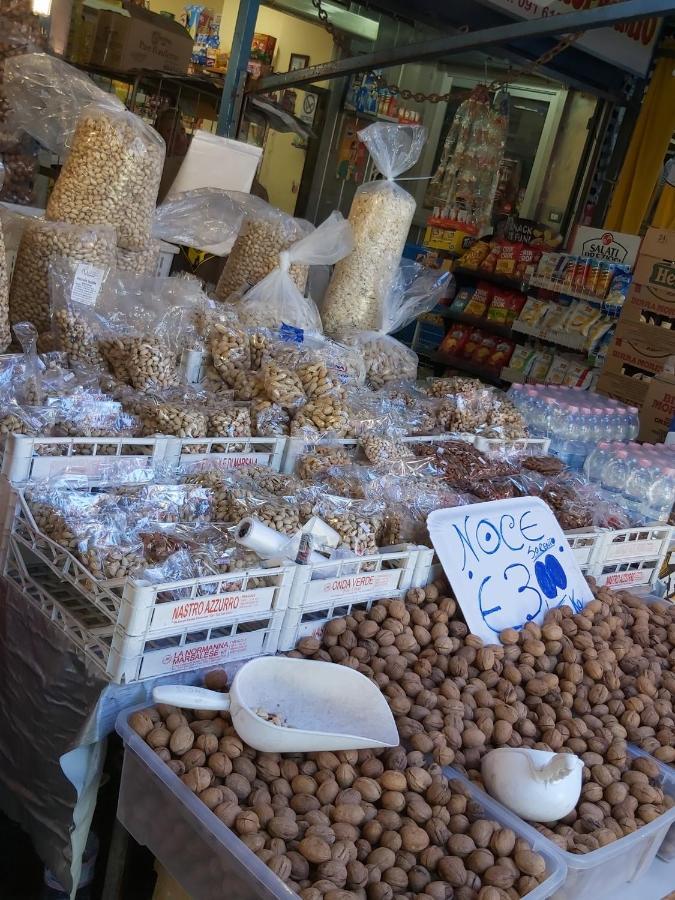
[[[280,253],[314,230],[309,222],[294,219],[259,197],[241,194],[235,199],[234,193],[230,196],[243,213],[243,224],[216,285],[218,300],[228,300],[258,284],[277,268]],[[304,260],[293,261],[290,267],[290,277],[301,293],[308,271]]]

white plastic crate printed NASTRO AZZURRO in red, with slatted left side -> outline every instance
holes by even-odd
[[[71,585],[126,635],[147,640],[187,626],[211,627],[242,615],[285,609],[289,602],[296,569],[292,563],[158,584],[136,578],[96,579],[72,553],[39,531],[21,491],[5,487],[3,494],[9,516],[5,544]],[[264,583],[257,586],[255,581],[261,579]]]

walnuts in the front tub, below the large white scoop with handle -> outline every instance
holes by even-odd
[[[129,721],[303,900],[508,900],[546,878],[543,857],[419,751],[259,753],[226,713],[162,705]]]

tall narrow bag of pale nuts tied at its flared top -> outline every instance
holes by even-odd
[[[383,328],[385,304],[401,261],[415,200],[395,179],[415,165],[427,138],[421,125],[376,122],[358,133],[384,180],[361,185],[349,211],[355,249],[339,262],[322,304],[327,334]]]

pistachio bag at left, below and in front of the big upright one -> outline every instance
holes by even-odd
[[[115,265],[115,229],[31,220],[21,237],[9,292],[12,325],[29,321],[39,334],[49,331],[49,266],[60,258],[109,269]]]

